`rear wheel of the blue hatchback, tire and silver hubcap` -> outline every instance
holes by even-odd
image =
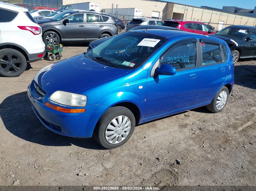
[[[206,108],[213,112],[218,113],[224,109],[228,102],[229,91],[226,86],[223,86],[213,98],[212,102]]]

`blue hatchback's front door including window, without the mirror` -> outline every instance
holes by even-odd
[[[196,62],[196,39],[183,40],[160,56],[160,67],[169,64],[175,67],[177,72],[173,76],[148,77],[145,119],[161,117],[192,105],[200,78]]]

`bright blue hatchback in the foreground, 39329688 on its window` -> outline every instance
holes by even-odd
[[[28,97],[46,128],[94,135],[110,149],[128,141],[137,124],[201,106],[220,112],[233,84],[234,63],[223,40],[147,29],[48,65],[28,86]]]

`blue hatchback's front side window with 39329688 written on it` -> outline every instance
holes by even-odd
[[[186,43],[172,49],[167,54],[160,64],[170,64],[178,69],[191,68],[196,65],[196,43]]]

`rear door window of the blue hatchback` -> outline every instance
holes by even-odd
[[[201,43],[203,65],[221,62],[221,49],[218,44]]]

